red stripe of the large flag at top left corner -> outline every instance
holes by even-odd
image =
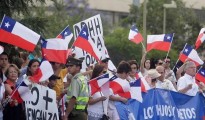
[[[35,48],[35,44],[28,42],[27,40],[15,35],[11,34],[10,32],[7,32],[5,30],[0,29],[0,41],[5,42],[14,46],[18,46],[22,49],[33,51]]]

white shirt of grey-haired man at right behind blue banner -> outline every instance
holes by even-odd
[[[192,84],[192,88],[189,89],[186,93],[187,95],[190,96],[195,96],[197,94],[197,92],[199,91],[199,87],[195,82],[195,77],[192,77],[188,74],[185,74],[183,77],[180,77],[178,82],[177,82],[177,89],[182,90],[185,87],[187,87],[189,84]]]

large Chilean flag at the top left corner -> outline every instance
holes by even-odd
[[[0,41],[32,52],[40,35],[21,23],[4,16],[0,26]]]

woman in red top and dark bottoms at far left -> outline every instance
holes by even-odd
[[[20,75],[20,70],[14,64],[10,64],[5,72],[7,80],[5,84],[5,95],[10,99],[3,110],[4,120],[26,120],[25,111],[23,111],[23,100],[17,92],[16,80]]]

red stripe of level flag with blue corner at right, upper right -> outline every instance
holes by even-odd
[[[161,50],[161,51],[169,51],[170,45],[171,45],[170,42],[163,42],[163,41],[148,43],[147,52],[152,49]]]

